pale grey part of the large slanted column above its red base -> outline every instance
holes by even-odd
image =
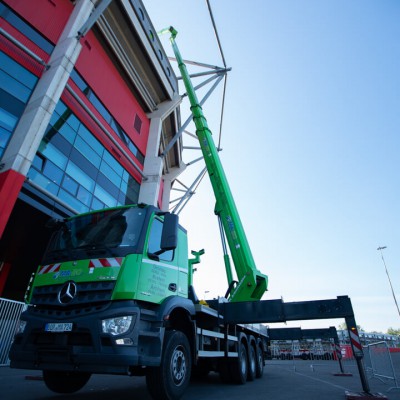
[[[91,0],[78,0],[49,60],[50,68],[39,79],[25,111],[3,155],[3,171],[12,169],[24,176],[46,132],[50,118],[67,84],[82,45],[78,30],[93,10]]]

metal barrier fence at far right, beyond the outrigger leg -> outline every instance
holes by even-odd
[[[394,384],[388,390],[400,389],[387,342],[376,342],[364,346],[364,365],[369,379]]]

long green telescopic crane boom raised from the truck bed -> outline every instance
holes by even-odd
[[[238,278],[238,282],[233,280],[230,262],[225,256],[225,268],[230,288],[229,301],[259,300],[267,290],[268,277],[256,268],[212,133],[207,125],[207,120],[197,99],[186,65],[176,44],[177,31],[173,27],[164,30],[162,33],[165,31],[171,33],[170,41],[191,105],[190,109],[196,126],[196,135],[199,139],[216,199],[215,213],[220,218]]]

